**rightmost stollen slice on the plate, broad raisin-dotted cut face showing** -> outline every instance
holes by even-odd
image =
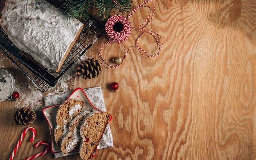
[[[110,116],[110,113],[102,111],[93,111],[86,116],[80,129],[82,140],[79,153],[83,160],[90,159],[97,149]]]

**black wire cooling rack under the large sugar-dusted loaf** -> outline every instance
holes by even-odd
[[[59,0],[47,1],[56,7],[60,6]],[[0,2],[0,11],[2,11],[2,9],[4,8],[4,2]],[[2,16],[1,13],[0,16]],[[43,71],[50,73],[56,78],[56,80],[58,80],[65,73],[65,71],[67,71],[67,69],[69,69],[72,64],[74,64],[74,62],[76,62],[76,60],[78,60],[104,33],[103,27],[101,27],[101,25],[92,16],[89,16],[86,20],[82,22],[84,24],[83,30],[81,31],[79,38],[76,40],[76,44],[70,51],[70,54],[67,56],[65,62],[63,63],[60,71],[56,72],[46,69],[38,62],[36,62],[34,58],[32,58],[29,54],[25,52],[21,52],[21,54],[29,58],[32,62],[36,63],[40,68],[42,68]],[[0,35],[9,40],[7,34],[3,31],[2,27],[0,27]],[[29,78],[29,80],[31,80],[31,82],[34,83],[41,92],[45,92],[51,87],[38,75],[34,74],[31,70],[21,64],[18,59],[13,56],[7,49],[4,49],[0,46],[0,50],[2,50],[4,54],[6,54],[6,56],[13,62],[13,64],[16,65],[16,67],[18,67],[20,71],[22,71],[22,73],[24,73],[25,76]]]

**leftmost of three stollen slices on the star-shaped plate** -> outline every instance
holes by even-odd
[[[56,127],[54,138],[56,144],[61,144],[61,138],[67,132],[69,122],[76,117],[82,110],[84,102],[81,100],[66,100],[60,105],[56,116]]]

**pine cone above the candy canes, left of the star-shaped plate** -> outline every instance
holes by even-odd
[[[14,115],[15,123],[18,124],[20,127],[28,126],[32,124],[34,120],[36,120],[36,113],[27,107],[20,108],[16,111]]]

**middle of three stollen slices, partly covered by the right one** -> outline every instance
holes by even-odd
[[[84,111],[76,116],[69,126],[69,131],[64,134],[61,142],[61,151],[64,154],[70,153],[81,142],[80,127],[85,117],[90,111]]]

